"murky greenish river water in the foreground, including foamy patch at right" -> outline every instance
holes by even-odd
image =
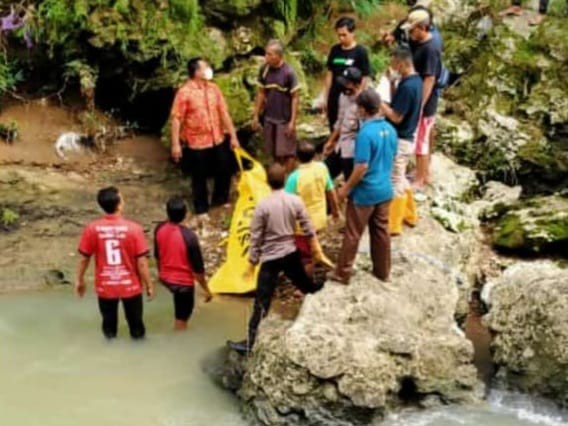
[[[165,291],[145,310],[146,341],[131,342],[122,321],[119,339],[108,343],[93,296],[77,300],[70,289],[1,295],[0,425],[245,426],[237,402],[213,384],[203,362],[243,335],[248,303],[199,304],[183,334],[171,331]],[[494,393],[475,409],[407,413],[386,424],[559,426],[568,417],[544,402]]]

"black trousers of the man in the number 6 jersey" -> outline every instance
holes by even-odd
[[[142,339],[146,335],[146,328],[142,320],[143,302],[142,295],[128,299],[102,299],[99,297],[99,310],[103,317],[102,330],[107,339],[116,337],[118,329],[118,302],[122,300],[124,315],[133,339]]]

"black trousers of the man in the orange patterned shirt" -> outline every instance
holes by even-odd
[[[212,206],[229,202],[234,157],[228,140],[206,149],[183,149],[182,170],[191,176],[191,191],[195,214],[209,211],[207,179],[213,177]]]

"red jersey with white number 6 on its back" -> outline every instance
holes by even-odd
[[[144,230],[118,215],[107,215],[83,230],[79,253],[95,256],[95,288],[103,299],[122,299],[142,293],[137,260],[149,253]]]

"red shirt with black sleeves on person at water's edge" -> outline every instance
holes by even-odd
[[[154,255],[160,280],[167,284],[192,286],[194,274],[203,274],[203,256],[195,232],[172,222],[163,222],[154,232]]]

